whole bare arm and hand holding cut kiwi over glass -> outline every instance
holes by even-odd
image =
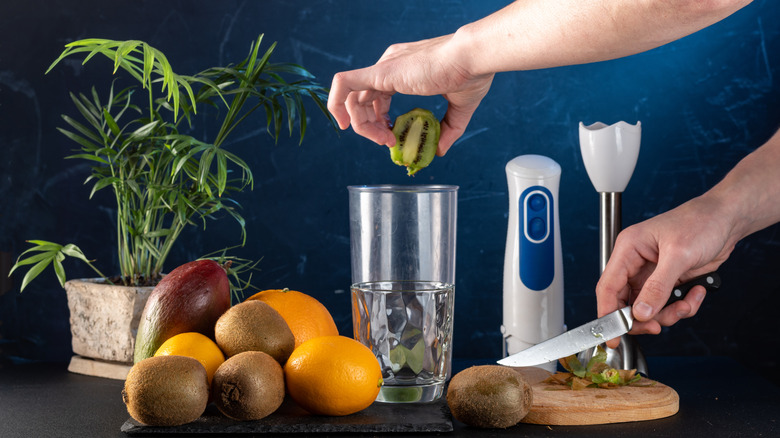
[[[376,64],[337,73],[328,109],[341,129],[392,146],[393,94],[448,101],[437,153],[465,132],[497,72],[604,61],[709,26],[750,0],[518,0],[451,35],[390,46]]]

